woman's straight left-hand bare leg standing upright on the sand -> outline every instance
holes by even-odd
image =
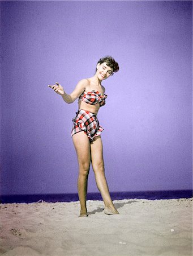
[[[72,136],[79,163],[78,194],[80,200],[80,217],[87,216],[87,181],[91,164],[91,146],[87,135],[80,131]]]

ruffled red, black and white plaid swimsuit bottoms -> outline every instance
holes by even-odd
[[[79,109],[76,112],[76,117],[72,119],[73,126],[71,136],[79,131],[84,131],[90,141],[95,141],[95,137],[101,134],[104,129],[99,125],[96,114],[87,110]]]

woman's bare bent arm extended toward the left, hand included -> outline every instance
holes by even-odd
[[[55,93],[61,95],[66,103],[71,104],[80,96],[80,94],[82,94],[82,92],[84,92],[87,83],[87,79],[80,80],[71,94],[67,94],[58,82],[56,82],[55,85],[48,86],[52,88]]]

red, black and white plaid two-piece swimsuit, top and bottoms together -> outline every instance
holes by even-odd
[[[84,101],[89,105],[99,104],[100,107],[105,105],[105,100],[107,95],[101,95],[101,93],[91,90],[91,92],[83,92],[79,100]],[[73,126],[71,131],[71,136],[80,131],[84,131],[87,134],[90,141],[94,141],[95,137],[101,134],[104,129],[99,125],[97,115],[95,113],[89,112],[88,110],[79,109],[76,112],[76,117],[72,119]]]

